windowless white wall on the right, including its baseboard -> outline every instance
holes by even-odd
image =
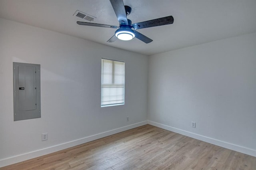
[[[153,55],[148,69],[150,124],[256,156],[256,33]]]

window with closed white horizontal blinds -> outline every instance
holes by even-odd
[[[101,59],[101,107],[124,105],[124,62]]]

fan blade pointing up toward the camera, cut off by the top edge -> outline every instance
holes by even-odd
[[[126,17],[126,11],[124,8],[124,2],[122,0],[109,0],[114,12],[116,13],[117,20],[122,25],[128,25],[128,20]]]

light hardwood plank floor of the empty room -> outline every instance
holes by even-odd
[[[256,170],[256,157],[151,125],[0,170]]]

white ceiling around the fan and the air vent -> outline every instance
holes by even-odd
[[[114,29],[80,26],[76,21],[88,21],[73,14],[80,10],[96,17],[94,23],[119,26],[108,0],[0,0],[0,18],[145,55],[256,32],[256,0],[124,0],[124,5],[132,7],[127,18],[133,23],[170,15],[174,23],[138,30],[153,40],[148,44],[136,38],[107,43]]]

